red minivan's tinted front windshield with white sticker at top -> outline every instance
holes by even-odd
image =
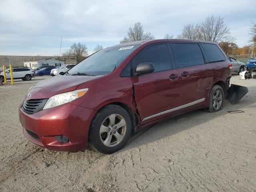
[[[117,46],[100,50],[71,68],[69,74],[104,75],[112,72],[139,45]]]

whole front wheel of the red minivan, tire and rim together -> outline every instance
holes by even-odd
[[[89,141],[96,150],[112,154],[124,147],[132,132],[128,112],[117,105],[102,108],[92,120]]]

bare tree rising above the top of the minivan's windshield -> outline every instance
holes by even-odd
[[[126,43],[131,41],[149,40],[155,37],[150,32],[144,32],[143,26],[140,22],[134,24],[133,28],[129,28],[127,32],[128,37],[124,37],[120,43]]]

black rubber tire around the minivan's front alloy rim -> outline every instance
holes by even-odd
[[[118,115],[121,116],[125,120],[126,131],[122,135],[123,138],[120,141],[120,143],[118,143],[118,139],[116,138],[115,134],[118,134],[118,132],[120,133],[119,130],[121,130],[121,129],[123,130],[124,127],[116,129],[116,131],[113,132],[112,128],[114,129],[115,127],[112,126],[112,128],[111,128],[111,126],[110,126],[110,124],[111,124],[110,118],[108,119],[108,117],[110,117],[110,115],[116,115],[114,118],[115,119],[114,125],[118,124],[118,122],[117,122]],[[107,140],[107,138],[109,136],[108,134],[111,134],[111,132],[112,132],[110,144],[111,144],[112,140],[116,140],[117,144],[115,146],[106,146],[105,144],[103,144],[104,141],[102,140],[102,134],[100,134],[100,128],[107,121],[107,119],[109,120],[109,122],[108,122],[108,126],[106,126],[106,127],[109,128],[109,132],[104,132],[102,134],[103,134],[103,137],[104,137],[104,134],[106,134],[106,140]],[[117,124],[116,124],[116,122],[117,122]],[[110,131],[110,129],[111,129],[111,131]],[[131,132],[132,132],[132,121],[131,121],[131,118],[130,118],[130,115],[128,114],[128,112],[120,106],[111,104],[111,105],[107,105],[104,108],[102,108],[94,116],[92,123],[90,125],[88,140],[98,152],[101,152],[104,154],[112,154],[124,147],[124,145],[126,144],[126,142],[128,142],[128,140],[130,138]]]

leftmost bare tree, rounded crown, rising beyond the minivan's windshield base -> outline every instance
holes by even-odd
[[[62,54],[62,56],[76,57],[76,62],[80,62],[84,58],[88,57],[88,51],[85,44],[74,43],[70,46],[70,49]]]

